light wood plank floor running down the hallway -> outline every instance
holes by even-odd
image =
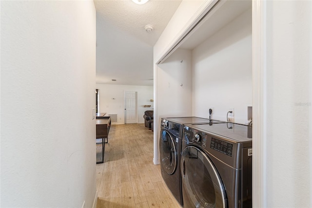
[[[153,144],[144,124],[111,126],[97,164],[97,208],[181,208],[153,164]]]

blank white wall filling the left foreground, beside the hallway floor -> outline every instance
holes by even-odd
[[[96,196],[93,1],[1,1],[1,207]]]

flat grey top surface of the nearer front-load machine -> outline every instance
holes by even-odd
[[[193,124],[188,126],[207,133],[214,133],[236,142],[252,141],[252,126],[233,123]]]

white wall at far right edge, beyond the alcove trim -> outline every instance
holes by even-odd
[[[264,207],[312,207],[312,1],[264,5]]]

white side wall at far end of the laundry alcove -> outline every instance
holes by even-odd
[[[156,67],[157,116],[154,117],[154,140],[157,144],[160,125],[155,124],[160,124],[161,118],[192,116],[191,57],[190,50],[177,49],[165,62]],[[154,160],[159,160],[158,155]]]

